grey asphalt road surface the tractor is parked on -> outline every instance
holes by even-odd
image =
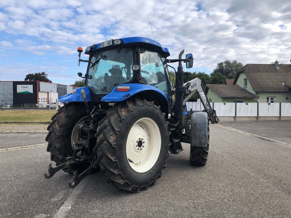
[[[291,217],[291,146],[210,125],[205,167],[183,148],[135,194],[98,174],[74,189],[67,173],[45,179],[46,146],[0,151],[0,217]]]

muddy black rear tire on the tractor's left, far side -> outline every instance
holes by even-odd
[[[86,116],[84,106],[68,103],[52,117],[52,122],[47,127],[49,133],[45,140],[48,142],[47,151],[51,153],[51,160],[56,162],[56,165],[64,163],[66,157],[72,156],[72,131],[76,124]]]

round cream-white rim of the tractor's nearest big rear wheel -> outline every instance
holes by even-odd
[[[126,141],[126,156],[131,168],[139,173],[150,170],[160,151],[161,133],[155,121],[148,117],[136,121]]]

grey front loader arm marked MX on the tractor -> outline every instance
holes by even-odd
[[[185,105],[185,103],[189,101],[191,96],[197,93],[201,100],[201,103],[203,104],[204,111],[208,114],[208,118],[210,119],[211,123],[218,123],[219,119],[216,116],[215,110],[212,110],[210,106],[209,100],[201,83],[201,80],[199,78],[192,79],[191,81],[184,83],[184,86],[187,86],[187,93],[189,93],[189,95],[184,100],[183,104]]]

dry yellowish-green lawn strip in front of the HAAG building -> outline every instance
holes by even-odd
[[[5,122],[49,122],[56,110],[0,110],[0,121]]]

